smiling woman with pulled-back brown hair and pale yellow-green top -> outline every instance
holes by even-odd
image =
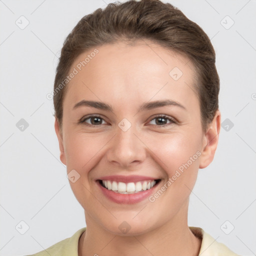
[[[67,36],[53,102],[86,228],[34,255],[237,255],[187,225],[220,131],[208,36],[171,4],[110,3]]]

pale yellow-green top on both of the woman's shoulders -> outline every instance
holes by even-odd
[[[203,231],[200,227],[189,226],[195,236],[202,239],[199,256],[239,256],[223,243],[217,242],[213,237]],[[86,227],[77,230],[71,237],[61,240],[45,250],[26,256],[78,256],[78,240]]]

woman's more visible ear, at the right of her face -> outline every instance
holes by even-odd
[[[208,125],[206,133],[203,134],[199,168],[207,167],[213,160],[218,144],[220,116],[220,111],[217,110],[212,122]]]

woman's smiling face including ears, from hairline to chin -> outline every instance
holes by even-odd
[[[120,42],[79,55],[66,85],[62,133],[55,122],[87,226],[114,234],[184,221],[198,168],[217,144],[220,115],[203,133],[191,62],[149,46]]]

